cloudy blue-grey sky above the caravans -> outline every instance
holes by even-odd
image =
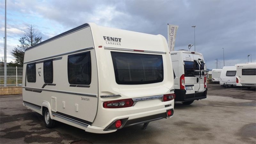
[[[0,58],[4,57],[4,0],[0,0]],[[207,68],[256,62],[255,0],[89,1],[7,0],[7,62],[27,25],[35,25],[43,40],[86,22],[167,38],[167,23],[178,25],[175,50],[194,44]],[[191,48],[194,51],[194,46]]]

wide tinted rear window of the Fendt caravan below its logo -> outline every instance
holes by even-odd
[[[117,84],[151,84],[164,80],[162,55],[111,52]]]

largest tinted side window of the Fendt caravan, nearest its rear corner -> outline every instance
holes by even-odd
[[[69,84],[91,84],[91,54],[83,52],[68,56]]]

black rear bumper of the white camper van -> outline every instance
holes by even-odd
[[[205,99],[207,95],[207,88],[204,92],[197,92],[192,94],[186,94],[186,90],[175,89],[175,101],[191,101]]]

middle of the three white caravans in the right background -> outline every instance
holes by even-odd
[[[224,87],[236,86],[236,66],[222,68],[220,85]]]

